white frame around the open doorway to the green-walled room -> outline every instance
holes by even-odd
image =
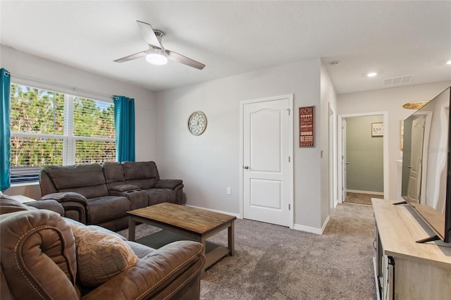
[[[337,176],[340,188],[342,186],[342,120],[352,117],[364,117],[369,115],[383,115],[383,198],[390,199],[389,195],[389,180],[388,180],[388,111],[374,111],[369,113],[348,113],[344,115],[338,115],[338,154],[337,154]],[[370,130],[370,129],[368,129]],[[345,199],[342,199],[342,193],[338,193],[338,202],[342,203]]]

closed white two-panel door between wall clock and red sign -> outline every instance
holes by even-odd
[[[243,105],[244,218],[290,226],[291,102],[286,97]]]

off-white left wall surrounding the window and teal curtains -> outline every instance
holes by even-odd
[[[136,160],[152,161],[155,159],[156,102],[154,92],[25,54],[6,46],[0,48],[0,65],[1,68],[5,68],[11,73],[11,82],[25,83],[26,80],[14,77],[14,75],[20,75],[101,94],[135,98]],[[52,88],[51,84],[45,85],[40,83],[38,87]],[[81,92],[64,91],[63,87],[54,88],[58,89],[58,92],[71,92],[75,95],[86,96]],[[5,194],[25,194],[25,196],[37,198],[40,197],[39,185],[11,187],[5,191]]]

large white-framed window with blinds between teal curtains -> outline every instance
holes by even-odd
[[[116,161],[113,103],[11,84],[11,182],[104,161]]]

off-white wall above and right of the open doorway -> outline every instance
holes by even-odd
[[[338,114],[367,113],[388,111],[388,182],[389,194],[385,198],[398,199],[397,166],[395,161],[400,155],[400,120],[404,120],[414,111],[402,108],[402,104],[411,101],[430,100],[449,87],[451,82],[434,82],[425,85],[410,85],[391,89],[377,89],[369,92],[357,92],[338,95]]]

